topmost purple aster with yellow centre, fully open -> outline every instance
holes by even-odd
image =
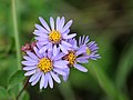
[[[69,53],[68,50],[72,44],[66,41],[76,36],[76,33],[69,34],[72,20],[64,24],[64,17],[58,17],[55,21],[51,17],[50,27],[43,18],[39,17],[39,20],[42,26],[35,24],[37,30],[33,32],[37,36],[35,40],[42,46],[39,52],[43,53],[53,49],[53,54],[57,56],[57,48],[59,48],[63,53]]]

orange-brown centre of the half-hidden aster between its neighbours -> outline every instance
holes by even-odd
[[[66,54],[64,57],[64,59],[69,61],[70,66],[73,66],[75,62],[76,56],[75,56],[74,51],[70,51],[69,54]]]

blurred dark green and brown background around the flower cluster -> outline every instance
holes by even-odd
[[[59,16],[73,20],[71,32],[78,37],[95,40],[102,57],[84,64],[88,73],[72,69],[68,82],[54,83],[53,89],[40,91],[39,83],[29,84],[21,100],[133,100],[133,0],[16,1],[20,47],[31,42],[39,17],[49,22]],[[0,0],[1,87],[7,89],[17,69],[11,0]]]

